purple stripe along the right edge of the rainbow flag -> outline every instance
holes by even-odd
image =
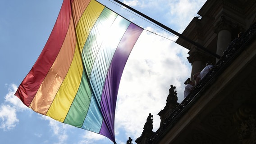
[[[125,63],[143,29],[131,23],[121,39],[108,70],[101,96],[101,135],[114,141],[114,113],[119,83]]]

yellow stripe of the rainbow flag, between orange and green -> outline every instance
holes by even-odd
[[[78,44],[76,45],[73,61],[46,116],[52,117],[60,122],[64,121],[81,82],[83,71],[81,52],[83,45],[103,9],[103,5],[95,0],[91,0],[80,18],[76,27]]]

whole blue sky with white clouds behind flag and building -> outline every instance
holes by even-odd
[[[112,144],[104,136],[69,126],[25,107],[14,96],[30,71],[55,24],[63,0],[4,0],[0,4],[0,143],[3,144]],[[119,86],[115,137],[126,144],[137,139],[146,117],[165,107],[170,85],[175,85],[178,102],[183,100],[183,82],[190,76],[188,50],[171,40],[177,38],[142,18],[99,0],[116,13],[157,35],[143,31],[125,66]],[[206,0],[123,0],[160,23],[182,32]],[[160,35],[160,36],[158,36]],[[167,37],[168,39],[163,38]]]

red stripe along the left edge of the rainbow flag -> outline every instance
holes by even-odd
[[[71,1],[64,0],[61,6],[59,16],[56,20],[55,26],[51,31],[50,37],[46,42],[44,49],[42,50],[36,63],[28,72],[22,83],[19,85],[15,95],[22,100],[22,102],[29,106],[34,98],[39,86],[44,80],[50,67],[55,61],[62,43],[65,39],[66,33],[69,28],[71,12]]]

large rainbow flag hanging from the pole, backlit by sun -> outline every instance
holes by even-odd
[[[44,49],[15,95],[35,112],[115,143],[119,83],[142,31],[96,0],[64,0]]]

